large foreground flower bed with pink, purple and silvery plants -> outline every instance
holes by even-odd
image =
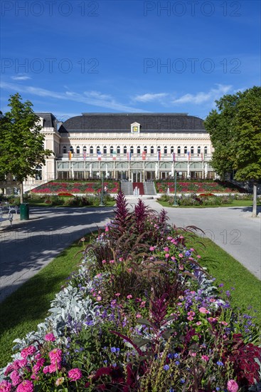
[[[50,316],[16,339],[0,391],[259,391],[260,330],[182,234],[119,193]]]

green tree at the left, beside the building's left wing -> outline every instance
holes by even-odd
[[[36,165],[45,165],[52,151],[43,147],[38,116],[33,104],[16,93],[9,98],[11,110],[0,118],[0,177],[11,173],[20,182],[23,202],[23,181],[36,175]]]

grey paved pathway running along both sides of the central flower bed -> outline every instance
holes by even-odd
[[[137,199],[127,198],[134,205]],[[154,210],[156,200],[144,198]],[[0,301],[48,264],[65,247],[85,233],[95,231],[112,217],[113,207],[105,208],[31,208],[30,220],[14,215],[0,227]],[[171,223],[178,227],[195,225],[220,247],[261,279],[260,215],[250,217],[248,207],[166,208]],[[260,287],[261,295],[261,287]]]

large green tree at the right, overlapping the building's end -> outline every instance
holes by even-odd
[[[252,181],[257,216],[257,181],[261,179],[261,87],[254,86],[215,101],[204,125],[215,148],[211,165],[221,177],[235,170],[235,179]]]

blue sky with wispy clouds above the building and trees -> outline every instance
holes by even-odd
[[[11,94],[83,112],[205,118],[260,86],[260,1],[1,1],[1,110]]]

